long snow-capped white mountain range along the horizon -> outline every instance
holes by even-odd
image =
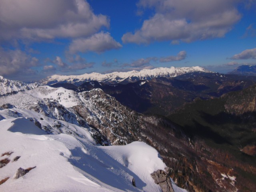
[[[113,72],[108,74],[100,74],[100,73],[90,73],[83,75],[53,75],[49,76],[40,82],[45,85],[55,84],[57,82],[61,83],[72,83],[76,86],[83,84],[88,81],[98,81],[104,82],[106,84],[127,84],[129,82],[136,82],[138,80],[150,80],[156,77],[176,77],[185,73],[191,72],[209,72],[202,67],[170,67],[170,68],[155,68],[155,69],[144,69],[141,71],[129,71],[129,72]]]

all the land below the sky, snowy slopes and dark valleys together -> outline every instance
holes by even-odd
[[[0,96],[0,190],[253,191],[256,77],[158,70],[18,82]]]

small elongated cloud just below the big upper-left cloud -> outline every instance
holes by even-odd
[[[78,38],[72,41],[69,46],[71,54],[77,52],[93,51],[102,53],[111,49],[119,49],[122,45],[116,42],[109,33],[100,32],[89,38]]]

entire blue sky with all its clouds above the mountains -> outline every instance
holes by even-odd
[[[256,0],[0,0],[0,75],[256,64]]]

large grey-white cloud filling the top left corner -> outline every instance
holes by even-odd
[[[80,38],[109,27],[84,0],[0,0],[0,40]]]

